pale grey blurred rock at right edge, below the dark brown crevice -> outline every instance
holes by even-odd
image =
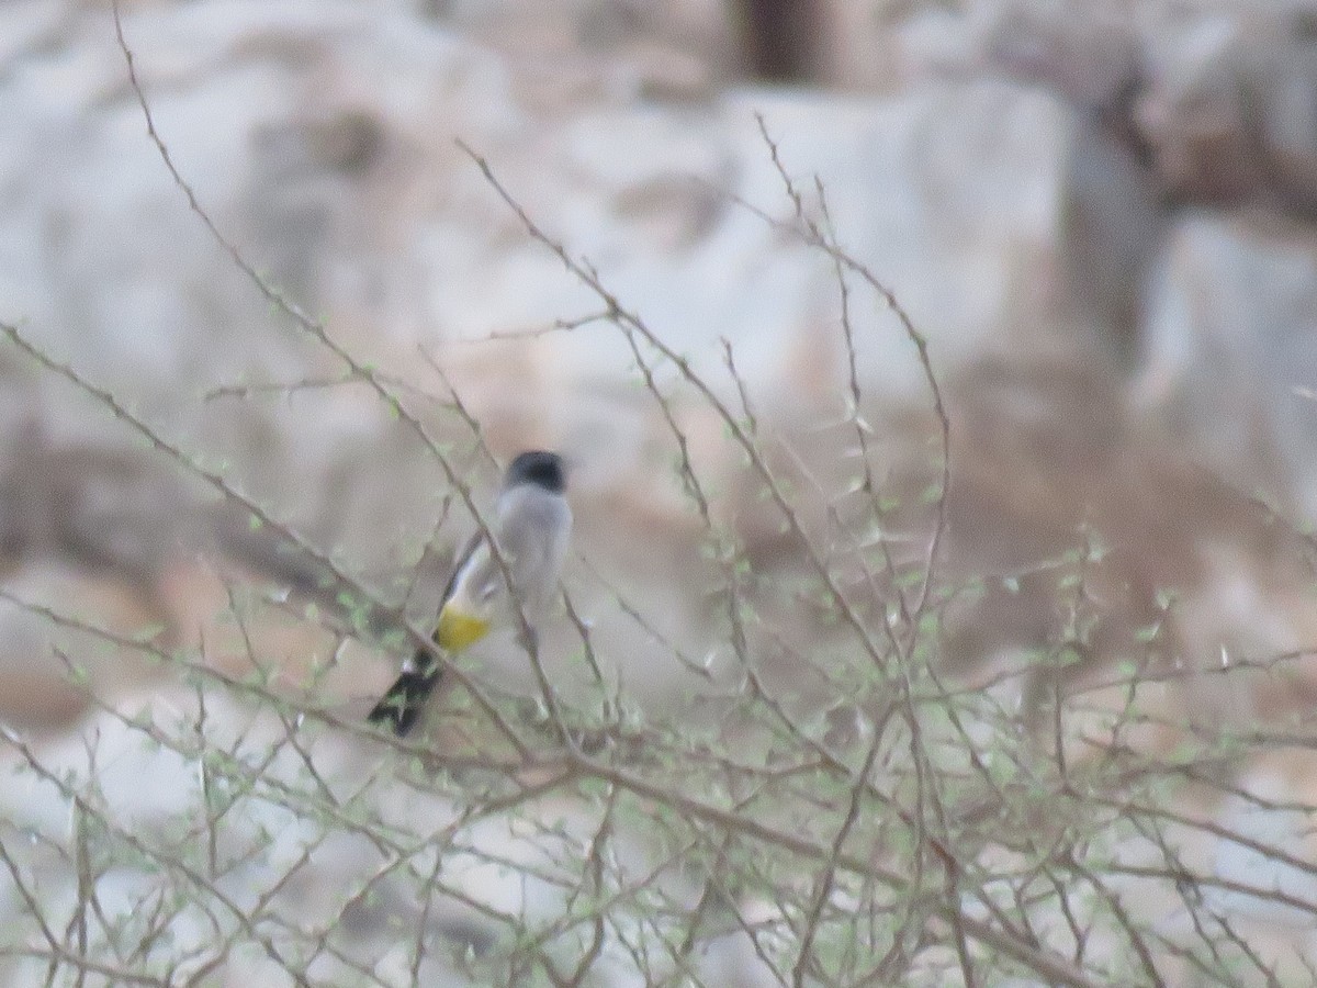
[[[1267,212],[1187,213],[1147,290],[1135,399],[1191,458],[1317,511],[1317,233]]]

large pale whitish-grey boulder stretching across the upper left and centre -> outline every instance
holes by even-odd
[[[366,16],[352,4],[319,7],[313,24],[303,14],[299,5],[192,4],[129,17],[126,30],[161,133],[221,229],[309,311],[327,312],[362,358],[386,365],[415,368],[417,340],[481,339],[589,304],[453,148],[457,136],[490,155],[547,231],[605,263],[610,285],[672,345],[709,352],[697,353],[701,370],[719,366],[716,337],[726,336],[747,350],[752,379],[764,362],[755,354],[770,354],[784,333],[831,308],[824,261],[806,261],[809,252],[784,245],[759,219],[719,206],[731,192],[781,213],[756,112],[806,191],[814,174],[824,180],[842,241],[944,348],[993,341],[1004,321],[1014,332],[1065,321],[1067,304],[1088,302],[1085,279],[1104,277],[1090,274],[1093,263],[1137,258],[1147,242],[1139,177],[1081,117],[1018,87],[943,86],[840,104],[743,91],[641,113],[630,94],[598,92],[578,95],[564,119],[518,96],[518,79],[533,67],[432,25]],[[171,416],[183,414],[186,395],[216,385],[333,373],[323,350],[266,327],[253,287],[170,187],[101,28],[74,22],[62,50],[79,53],[76,86],[47,100],[43,116],[24,108],[51,88],[51,59],[14,55],[21,71],[5,90],[8,119],[28,123],[11,124],[9,169],[25,211],[11,219],[5,242],[42,242],[40,217],[79,220],[72,244],[45,260],[25,252],[12,304],[57,350],[54,327],[79,327],[79,353],[101,378],[132,383],[155,403],[171,395]],[[212,70],[205,59],[223,53],[230,53],[225,67]],[[113,126],[92,126],[101,119]],[[25,169],[38,133],[59,169]],[[973,173],[957,167],[967,157],[980,162]],[[112,180],[95,182],[111,163]],[[158,236],[132,241],[132,257],[120,250],[97,267],[97,245],[112,242],[126,213],[158,215],[179,234],[157,227]],[[1089,227],[1072,229],[1076,216],[1102,217],[1088,245]],[[1121,233],[1112,241],[1109,231]],[[76,263],[86,270],[71,266],[83,256]],[[166,298],[117,311],[144,290],[141,270],[169,273],[153,288]],[[82,310],[68,308],[57,275],[59,285],[86,286]],[[1098,294],[1119,296],[1127,279],[1112,288],[1098,281]],[[203,299],[213,304],[200,307]],[[134,335],[120,332],[124,324]],[[602,335],[573,333],[554,348],[558,360],[598,373]],[[607,352],[630,360],[615,333]],[[183,422],[203,407],[208,439],[230,444],[233,419],[255,418],[249,429],[261,422],[241,403],[194,406]]]

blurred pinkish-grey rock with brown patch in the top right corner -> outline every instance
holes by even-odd
[[[839,3],[840,9],[853,4]],[[872,5],[874,9],[880,4]],[[892,4],[848,49],[880,45],[907,87],[1008,76],[1101,121],[1172,202],[1317,207],[1317,8],[1308,0]],[[843,74],[864,84],[873,71]]]

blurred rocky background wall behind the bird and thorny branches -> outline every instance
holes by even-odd
[[[786,228],[798,217],[776,154],[801,215],[928,340],[952,436],[939,559],[948,580],[980,580],[948,606],[946,669],[977,682],[1055,643],[1056,561],[1097,544],[1102,622],[1067,677],[1100,682],[1156,626],[1176,668],[1242,669],[1168,688],[1168,717],[1310,721],[1317,671],[1299,655],[1277,676],[1268,659],[1317,636],[1317,5],[137,0],[122,13],[158,136],[205,213],[391,382],[477,494],[518,449],[572,457],[569,593],[645,703],[687,702],[698,677],[673,648],[712,656],[715,673],[724,659],[706,530],[664,414],[764,578],[786,644],[760,647],[788,681],[792,648],[819,634],[774,589],[799,547],[765,520],[676,364],[637,358],[595,319],[601,299],[468,149],[720,400],[747,403],[784,473],[818,483],[819,511],[842,498],[853,440],[830,423],[856,404],[884,483],[915,501],[936,478],[918,352],[863,285],[843,310],[832,260]],[[419,623],[432,613],[466,531],[443,470],[190,209],[101,3],[0,7],[0,320],[382,599]],[[398,649],[336,631],[350,615],[308,622],[287,603],[350,610],[323,576],[0,346],[7,599],[234,674],[254,635],[286,689],[313,680],[352,721]],[[242,634],[237,598],[263,614]],[[549,660],[572,682],[560,623]],[[100,730],[61,661],[72,653],[107,703],[195,702],[159,663],[0,603],[0,719],[38,760],[67,764]],[[533,689],[515,649],[489,661]],[[1026,681],[1026,714],[1047,689]],[[1309,761],[1287,748],[1231,772],[1306,805]],[[5,802],[37,815],[32,793]],[[1293,825],[1266,826],[1299,840]],[[1221,854],[1223,873],[1251,867]],[[1306,881],[1296,894],[1317,896]],[[1291,958],[1312,946],[1275,937]]]

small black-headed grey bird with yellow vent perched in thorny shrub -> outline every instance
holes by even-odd
[[[565,486],[562,457],[557,453],[533,449],[512,460],[490,524],[512,586],[508,588],[485,534],[473,535],[444,589],[433,634],[435,644],[444,652],[456,655],[497,624],[515,624],[518,603],[532,626],[549,605],[572,535]],[[424,648],[416,649],[367,719],[404,736],[441,677],[443,667]]]

